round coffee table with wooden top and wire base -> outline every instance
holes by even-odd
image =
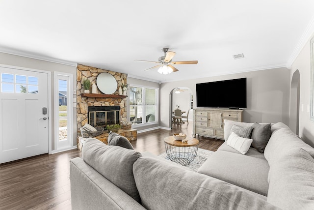
[[[164,138],[165,148],[169,159],[180,165],[189,165],[195,158],[199,141],[195,138],[187,138],[186,143],[175,140],[173,136]]]

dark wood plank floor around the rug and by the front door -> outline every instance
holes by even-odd
[[[137,134],[132,145],[137,151],[160,154],[163,138],[173,133],[192,133],[192,123],[174,125],[172,130],[158,129]],[[221,140],[197,137],[199,148],[217,150]],[[45,154],[0,165],[0,210],[71,210],[69,160],[80,157],[79,150]]]

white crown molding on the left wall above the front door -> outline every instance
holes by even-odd
[[[23,56],[23,57],[30,58],[30,59],[44,60],[44,61],[48,61],[48,62],[70,65],[70,66],[75,66],[75,67],[78,65],[76,62],[71,62],[68,60],[54,59],[54,58],[50,58],[50,57],[46,57],[46,56],[34,55],[32,53],[23,52],[23,51],[19,51],[19,50],[13,50],[13,49],[2,47],[2,46],[0,46],[0,52],[15,55],[15,56]]]

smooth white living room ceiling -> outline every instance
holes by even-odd
[[[283,67],[312,34],[313,8],[314,0],[1,0],[0,51],[160,82]],[[163,47],[173,61],[198,64],[161,75],[134,61],[157,61]]]

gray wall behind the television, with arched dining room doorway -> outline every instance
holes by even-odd
[[[194,94],[196,107],[196,84],[236,78],[247,78],[247,108],[243,112],[245,122],[289,123],[289,78],[287,68],[243,72],[208,78],[162,83],[160,85],[160,126],[170,127],[170,93],[176,87],[184,86]],[[230,89],[232,91],[232,87]],[[208,95],[210,97],[210,90]],[[214,98],[213,98],[214,100]]]

